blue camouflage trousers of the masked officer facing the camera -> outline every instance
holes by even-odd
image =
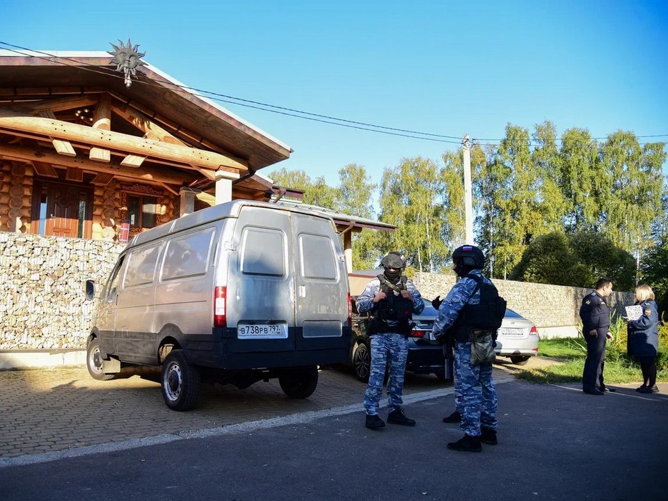
[[[404,372],[408,356],[408,340],[403,334],[383,333],[371,336],[371,372],[369,385],[364,395],[364,408],[368,415],[378,414],[379,401],[383,396],[385,367],[389,365],[388,409],[401,408],[404,401]]]

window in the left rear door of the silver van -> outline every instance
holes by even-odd
[[[285,234],[246,226],[239,256],[244,275],[285,276]]]

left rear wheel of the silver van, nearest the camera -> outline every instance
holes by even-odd
[[[200,372],[186,360],[182,350],[170,351],[160,376],[162,396],[173,411],[189,411],[195,406],[200,390]]]

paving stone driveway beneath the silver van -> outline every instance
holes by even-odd
[[[85,367],[0,372],[0,458],[42,454],[88,445],[227,424],[321,411],[360,404],[365,383],[349,372],[320,372],[308,399],[288,399],[278,381],[262,381],[237,390],[231,385],[202,385],[197,407],[170,411],[156,372],[95,381]],[[434,376],[406,374],[405,395],[452,390]]]

